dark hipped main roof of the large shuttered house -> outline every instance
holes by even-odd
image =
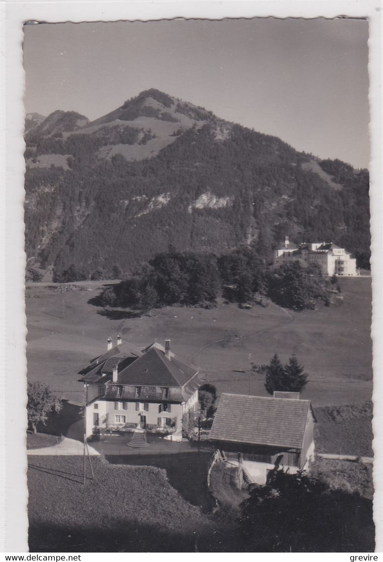
[[[137,386],[182,387],[197,373],[178,359],[166,359],[165,353],[151,347],[118,374],[118,384]]]

